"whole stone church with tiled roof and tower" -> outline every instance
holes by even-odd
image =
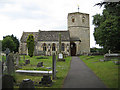
[[[89,14],[74,12],[68,14],[68,30],[23,32],[20,39],[19,54],[28,54],[27,37],[33,34],[35,39],[34,55],[52,55],[59,51],[59,33],[61,50],[66,55],[80,55],[90,52]]]

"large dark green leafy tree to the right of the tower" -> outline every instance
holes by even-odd
[[[120,52],[120,2],[103,2],[102,15],[93,16],[94,37],[97,44],[103,46],[104,52]]]

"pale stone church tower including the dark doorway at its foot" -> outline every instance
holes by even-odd
[[[68,14],[71,55],[90,52],[89,14],[74,12]]]

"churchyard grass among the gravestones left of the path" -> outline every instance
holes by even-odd
[[[37,59],[39,57],[42,57],[43,59]],[[46,67],[52,68],[52,56],[33,56],[33,57],[25,56],[25,60],[27,60],[27,59],[30,60],[30,64],[28,64],[26,66],[22,66],[21,70],[40,70],[40,71],[45,70],[45,71],[48,71],[49,69],[46,69]],[[57,79],[53,80],[52,86],[47,87],[47,88],[62,88],[64,79],[67,76],[67,73],[70,68],[71,57],[68,56],[65,58],[65,60],[66,60],[65,62],[62,62],[62,61],[56,62],[56,70],[57,70],[56,77],[57,77]],[[44,67],[43,68],[37,67],[38,62],[43,62]],[[25,63],[25,61],[23,60],[23,56],[21,56],[19,63],[20,64]],[[50,70],[52,70],[52,69],[50,69]],[[37,75],[28,75],[28,74],[19,74],[19,73],[16,73],[16,75],[15,75],[15,79],[16,79],[16,82],[18,85],[20,84],[20,82],[22,82],[23,79],[31,79],[32,81],[34,81],[34,84],[38,85],[38,86],[35,86],[35,88],[46,88],[46,87],[39,86],[39,82],[41,81],[41,78],[42,78],[42,75],[37,76]],[[51,79],[52,79],[52,76],[51,76]],[[18,85],[15,85],[14,88],[18,88],[19,87]]]

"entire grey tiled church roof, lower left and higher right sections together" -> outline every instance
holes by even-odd
[[[23,32],[20,39],[21,42],[26,42],[29,34],[33,34],[35,41],[58,41],[59,33],[61,33],[62,41],[70,41],[69,31],[39,31],[39,32]]]

